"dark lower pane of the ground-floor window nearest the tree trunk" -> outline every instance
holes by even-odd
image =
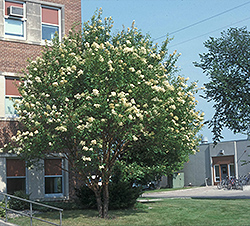
[[[62,177],[45,177],[45,194],[62,193]]]

